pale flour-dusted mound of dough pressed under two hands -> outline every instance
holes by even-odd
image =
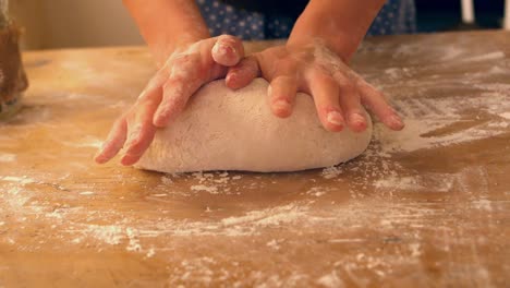
[[[292,116],[279,119],[268,106],[267,88],[263,79],[235,92],[224,81],[205,85],[174,123],[157,132],[136,167],[162,172],[296,171],[347,161],[368,146],[369,119],[362,133],[328,132],[312,97],[302,93]]]

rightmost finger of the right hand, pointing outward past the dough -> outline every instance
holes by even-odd
[[[373,111],[385,125],[394,131],[400,131],[404,128],[402,119],[388,105],[382,93],[364,80],[359,81],[357,87],[361,92],[362,104]]]

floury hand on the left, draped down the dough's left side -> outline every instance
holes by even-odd
[[[177,49],[150,79],[136,103],[113,123],[95,156],[98,164],[113,158],[122,148],[121,164],[135,164],[148,148],[158,128],[167,127],[204,84],[224,77],[229,68],[244,57],[240,39],[222,35]],[[256,73],[247,70],[245,73]],[[231,73],[227,86],[247,85],[253,75]]]

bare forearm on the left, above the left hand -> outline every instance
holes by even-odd
[[[209,37],[194,0],[123,0],[156,61],[179,47]]]

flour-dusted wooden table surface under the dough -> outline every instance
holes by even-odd
[[[0,287],[510,286],[509,33],[368,38],[353,67],[405,130],[376,121],[363,156],[295,173],[97,166],[146,49],[24,62],[0,124]]]

